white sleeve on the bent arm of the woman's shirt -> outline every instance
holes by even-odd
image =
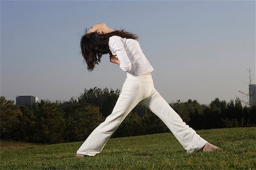
[[[126,71],[126,72],[131,71],[131,68],[133,65],[131,64],[131,61],[126,54],[125,41],[122,39],[122,37],[119,37],[119,36],[109,37],[109,46],[112,52],[117,55],[117,58],[120,61],[119,67],[123,71]]]

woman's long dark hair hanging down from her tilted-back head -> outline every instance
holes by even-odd
[[[106,33],[104,35],[100,35],[97,32],[89,34],[85,33],[85,35],[81,37],[81,53],[87,63],[87,69],[89,71],[92,71],[95,65],[101,62],[103,54],[109,53],[110,56],[112,55],[109,50],[109,37],[114,35],[127,39],[138,39],[137,35],[131,32],[126,32],[123,29],[120,31]]]

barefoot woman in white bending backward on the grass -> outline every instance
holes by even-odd
[[[171,130],[177,141],[188,153],[200,150],[214,151],[217,146],[201,138],[195,130],[181,120],[179,114],[163,99],[154,88],[151,72],[154,70],[144,56],[137,36],[126,31],[115,31],[105,23],[93,25],[81,38],[82,56],[92,71],[100,62],[102,54],[110,54],[110,62],[127,72],[117,103],[105,121],[92,131],[77,150],[77,157],[100,154],[106,142],[118,126],[141,103],[158,116]]]

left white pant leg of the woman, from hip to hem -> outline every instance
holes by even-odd
[[[146,88],[144,86],[145,84],[142,82],[126,79],[112,114],[92,131],[77,150],[77,154],[95,156],[102,151],[121,122],[145,96]]]

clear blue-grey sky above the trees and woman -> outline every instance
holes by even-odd
[[[1,1],[1,90],[69,101],[89,88],[121,90],[126,73],[104,55],[89,72],[85,28],[104,22],[139,36],[168,103],[246,97],[255,83],[255,1]]]

